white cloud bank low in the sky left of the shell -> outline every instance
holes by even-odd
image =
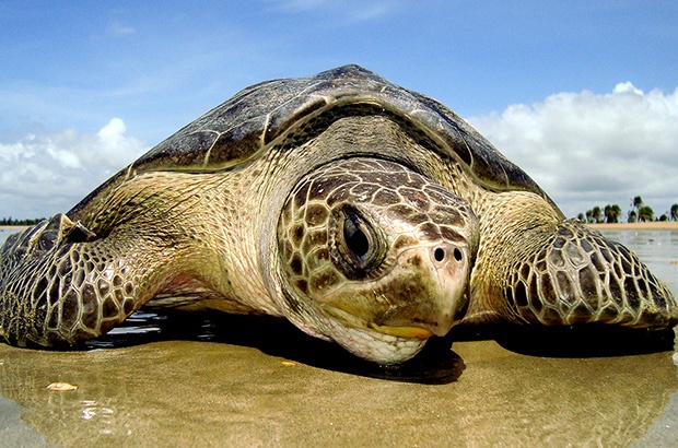
[[[0,143],[0,216],[19,219],[67,212],[148,148],[125,135],[113,118],[97,133],[74,130],[28,133]]]

